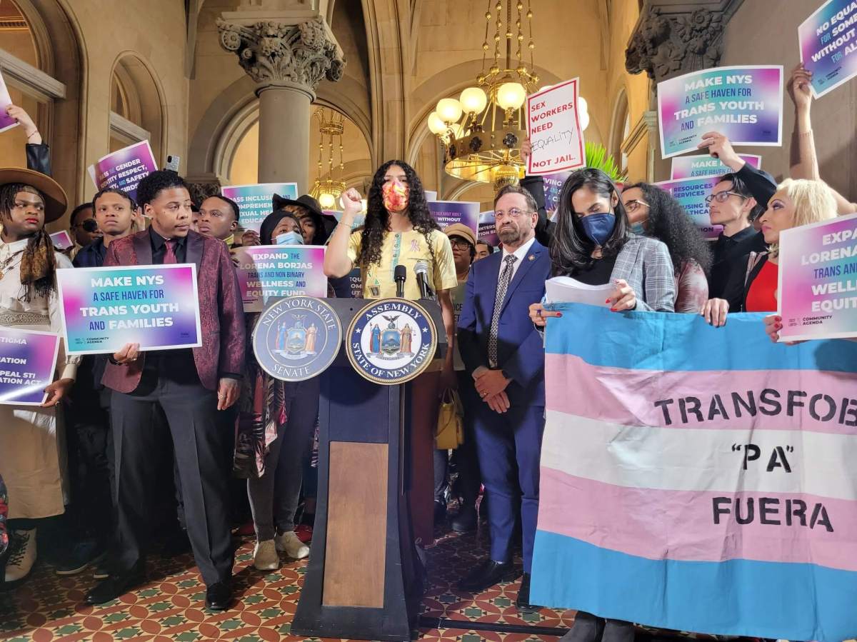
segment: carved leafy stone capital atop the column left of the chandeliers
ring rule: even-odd
[[[339,81],[345,58],[321,16],[302,21],[217,20],[220,45],[235,51],[238,63],[259,85],[294,87],[315,99],[323,78]]]

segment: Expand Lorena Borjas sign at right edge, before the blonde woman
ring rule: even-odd
[[[857,214],[780,232],[781,341],[857,337]]]

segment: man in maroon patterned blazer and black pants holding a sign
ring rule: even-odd
[[[146,231],[111,243],[105,267],[197,266],[202,345],[141,353],[125,345],[111,355],[104,384],[112,389],[116,446],[117,537],[111,577],[89,591],[89,604],[109,602],[142,581],[147,542],[148,489],[156,453],[170,440],[181,477],[188,534],[207,585],[206,607],[231,603],[232,548],[226,507],[231,429],[221,417],[238,398],[245,333],[241,295],[225,243],[190,231],[190,195],[173,171],[153,171],[137,187],[152,220]],[[153,425],[162,415],[164,427]]]

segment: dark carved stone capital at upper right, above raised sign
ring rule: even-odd
[[[741,0],[649,0],[625,51],[625,69],[661,82],[716,67],[722,34]]]

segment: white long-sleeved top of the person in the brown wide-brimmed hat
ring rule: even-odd
[[[0,326],[17,327],[22,330],[41,330],[63,336],[63,318],[59,309],[59,295],[50,297],[33,296],[25,301],[21,288],[21,256],[27,247],[28,239],[5,243],[0,238]],[[68,257],[54,252],[58,268],[74,269]],[[6,265],[6,261],[9,264]],[[60,341],[57,370],[60,379],[75,379],[81,357],[66,357],[65,342]]]

